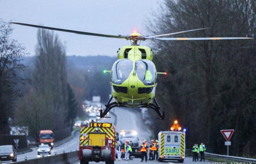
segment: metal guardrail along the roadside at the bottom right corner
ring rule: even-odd
[[[186,150],[186,153],[192,154],[192,151],[191,150]],[[235,161],[235,162],[246,162],[248,164],[251,164],[251,163],[252,164],[256,164],[256,159],[251,159],[251,158],[219,155],[219,154],[213,154],[213,153],[204,153],[204,156],[205,157],[210,157],[210,158],[217,158],[217,159],[224,159],[224,160],[229,160],[229,161]]]

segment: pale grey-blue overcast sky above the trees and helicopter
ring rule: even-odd
[[[6,22],[43,25],[109,35],[129,35],[137,30],[148,35],[146,24],[159,12],[164,0],[1,0],[0,18]],[[37,28],[12,25],[12,38],[34,55]],[[129,40],[55,31],[67,55],[116,56]],[[145,41],[141,45],[150,45]]]

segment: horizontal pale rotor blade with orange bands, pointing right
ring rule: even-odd
[[[229,40],[229,39],[253,39],[242,37],[223,37],[223,38],[148,38],[157,40]]]

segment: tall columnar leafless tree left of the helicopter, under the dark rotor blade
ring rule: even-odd
[[[32,85],[18,102],[20,125],[29,125],[31,134],[70,126],[65,48],[59,37],[39,29],[35,48]]]

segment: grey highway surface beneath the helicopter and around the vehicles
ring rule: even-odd
[[[116,108],[116,109],[112,109],[112,112],[114,114],[116,114],[117,116],[117,121],[116,121],[116,130],[117,132],[120,132],[120,130],[124,129],[124,130],[136,130],[139,134],[139,138],[140,141],[147,139],[148,141],[150,140],[150,136],[151,136],[151,132],[150,130],[144,126],[144,123],[142,121],[141,118],[141,113],[134,110],[134,109],[128,109],[128,108]],[[109,116],[111,118],[104,118],[101,119],[101,122],[115,122],[115,117],[113,116],[113,114],[109,114]],[[70,152],[70,151],[76,151],[79,149],[79,133],[75,133],[74,138],[72,138],[71,140],[69,140],[68,142],[58,146],[58,147],[54,147],[51,155],[54,155],[55,153],[60,154],[63,153],[63,151],[65,152]],[[34,159],[34,158],[41,158],[42,156],[38,156],[37,155],[37,149],[33,148],[32,152],[28,152],[28,153],[24,153],[21,155],[17,156],[17,161],[22,161],[25,159],[25,156],[27,156],[27,159]],[[3,162],[3,163],[9,163],[9,162]],[[78,161],[75,164],[79,164],[80,162]],[[133,159],[133,160],[129,160],[129,161],[115,161],[115,163],[117,164],[138,164],[141,163],[140,159]],[[148,164],[155,164],[158,163],[158,161],[147,161]],[[173,162],[166,162],[166,163],[177,163],[175,161]],[[185,158],[184,163],[186,164],[190,164],[190,163],[199,163],[199,164],[206,164],[206,162],[192,162],[192,159],[189,157]],[[95,163],[95,162],[90,162],[90,164],[105,164],[105,162],[99,162],[99,163]]]

